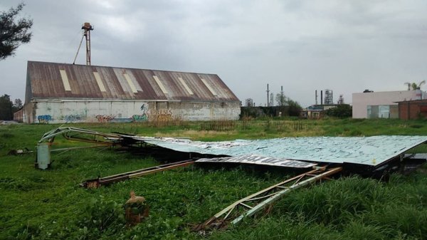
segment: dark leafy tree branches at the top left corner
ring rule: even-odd
[[[0,13],[0,60],[9,56],[14,56],[16,48],[21,43],[28,43],[31,40],[32,19],[18,19],[16,16],[25,4],[19,4],[16,8]]]

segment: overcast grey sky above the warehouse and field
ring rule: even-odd
[[[352,103],[364,89],[427,80],[426,0],[24,3],[31,43],[0,61],[0,95],[12,99],[25,98],[27,61],[73,63],[84,22],[95,28],[92,65],[216,73],[243,103],[265,105],[267,83],[307,107],[315,90]],[[0,11],[17,4],[2,0]]]

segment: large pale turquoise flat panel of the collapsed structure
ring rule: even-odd
[[[427,136],[285,137],[268,140],[200,142],[171,137],[132,137],[180,152],[238,157],[380,165],[427,141]]]

